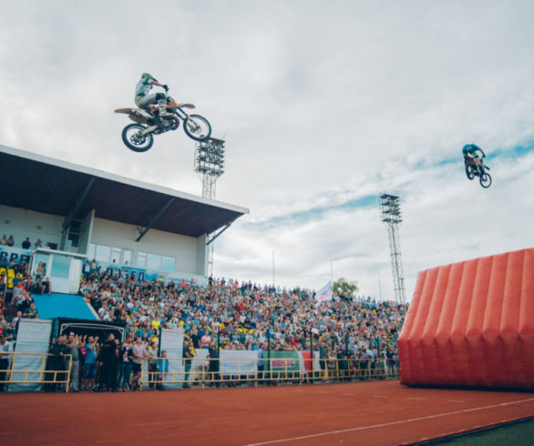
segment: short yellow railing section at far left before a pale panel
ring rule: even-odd
[[[68,391],[72,355],[49,353],[2,352],[0,354],[0,390],[12,384],[41,385]]]

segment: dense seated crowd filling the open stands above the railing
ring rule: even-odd
[[[128,335],[149,345],[159,329],[181,326],[195,349],[217,340],[231,350],[321,350],[354,359],[396,355],[396,339],[406,305],[371,298],[335,298],[316,305],[308,289],[210,279],[206,287],[194,282],[159,282],[127,274],[99,273],[90,262],[80,284],[98,316],[123,321]],[[116,270],[117,271],[117,270]]]

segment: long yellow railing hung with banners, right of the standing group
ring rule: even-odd
[[[167,365],[165,364],[165,361]],[[161,387],[204,388],[237,385],[305,384],[349,380],[398,379],[398,358],[355,359],[212,359],[159,358],[144,364],[140,389]]]

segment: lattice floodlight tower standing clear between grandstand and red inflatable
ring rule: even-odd
[[[387,225],[387,232],[389,234],[389,251],[391,252],[395,301],[406,303],[405,276],[398,237],[398,227],[402,223],[403,218],[401,216],[398,197],[387,194],[380,196],[380,218]]]

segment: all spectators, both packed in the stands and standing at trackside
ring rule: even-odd
[[[21,318],[36,318],[32,293],[50,293],[49,279],[31,278],[27,266],[15,265],[17,279],[11,305],[15,318],[0,317],[0,335],[14,341]],[[209,279],[202,287],[136,279],[87,261],[80,281],[84,296],[105,321],[124,322],[127,338],[78,336],[55,340],[56,355],[48,367],[64,370],[63,355],[73,358],[72,390],[131,390],[137,387],[140,363],[148,360],[152,378],[164,373],[165,353],[158,348],[159,329],[182,327],[185,334],[185,369],[196,349],[319,350],[322,370],[334,360],[384,360],[393,365],[396,339],[406,305],[369,297],[339,297],[317,305],[309,289],[281,289],[251,281]],[[137,346],[137,347],[136,347]],[[348,363],[348,362],[347,362]],[[50,376],[50,375],[49,375]],[[157,388],[155,383],[154,387]],[[48,390],[57,386],[49,385]]]

